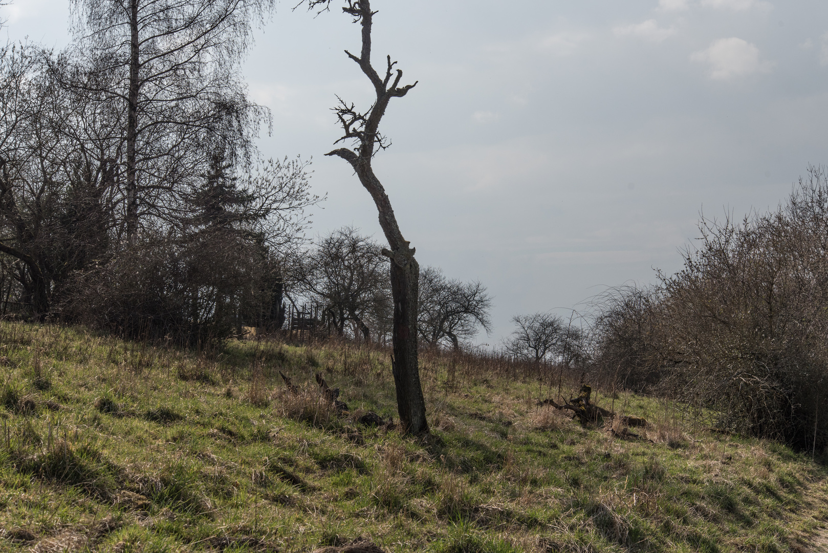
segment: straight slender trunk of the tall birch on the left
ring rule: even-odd
[[[129,26],[131,31],[129,49],[129,93],[127,117],[127,240],[135,245],[138,232],[138,186],[137,186],[137,130],[138,130],[138,0],[129,2]]]

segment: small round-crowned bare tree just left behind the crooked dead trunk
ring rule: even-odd
[[[302,291],[323,306],[337,334],[343,336],[346,323],[354,323],[370,340],[370,323],[391,303],[381,246],[345,226],[320,238],[299,267]]]

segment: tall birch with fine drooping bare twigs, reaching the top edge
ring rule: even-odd
[[[125,112],[125,221],[175,209],[174,192],[209,162],[204,146],[245,148],[262,112],[244,95],[238,62],[251,21],[273,0],[73,0],[79,94]],[[208,148],[209,149],[209,148]],[[200,155],[201,154],[201,155]]]

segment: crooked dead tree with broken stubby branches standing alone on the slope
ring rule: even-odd
[[[327,9],[330,0],[308,0],[310,8]],[[354,148],[338,148],[325,155],[339,156],[354,168],[359,182],[371,194],[379,212],[379,225],[383,229],[390,249],[383,249],[383,255],[391,260],[391,291],[394,302],[392,327],[392,371],[397,388],[397,410],[400,422],[406,432],[424,434],[428,432],[426,402],[422,396],[420,370],[417,365],[417,292],[420,266],[414,259],[415,249],[402,237],[397,217],[385,188],[373,172],[371,160],[378,150],[388,148],[388,140],[379,133],[379,122],[383,119],[388,102],[401,98],[415,85],[400,85],[402,70],[395,69],[396,61],[387,58],[385,74],[380,76],[371,65],[371,26],[376,12],[371,11],[369,0],[346,0],[342,11],[354,17],[362,27],[362,51],[355,56],[345,51],[348,57],[359,65],[371,81],[377,98],[368,111],[360,112],[354,104],[339,99],[334,109],[344,131],[336,143],[354,142]]]

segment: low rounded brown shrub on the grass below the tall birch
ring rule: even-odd
[[[262,313],[274,311],[271,303],[281,305],[277,269],[260,245],[240,234],[151,236],[142,246],[76,274],[66,287],[63,317],[127,337],[198,346],[238,332],[239,313],[246,324],[269,324]]]

